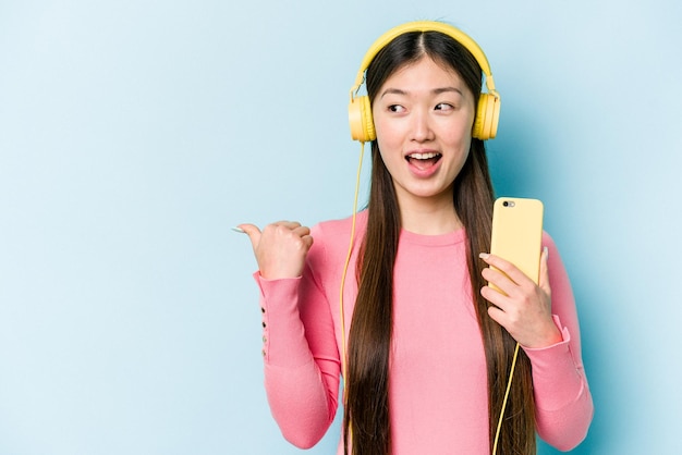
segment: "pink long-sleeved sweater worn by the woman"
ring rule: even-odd
[[[358,213],[360,234],[344,290],[346,340],[366,221],[366,212]],[[303,276],[265,280],[255,274],[268,401],[282,434],[299,447],[310,447],[324,436],[339,405],[339,290],[350,225],[345,219],[313,228],[315,242]],[[567,451],[585,438],[593,402],[571,285],[547,234],[543,243],[549,248],[552,313],[563,341],[524,351],[533,364],[538,434]],[[486,366],[464,231],[437,236],[403,231],[394,274],[389,388],[393,453],[488,454]]]

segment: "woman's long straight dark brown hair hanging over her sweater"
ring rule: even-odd
[[[397,70],[428,57],[453,69],[478,102],[482,71],[466,48],[438,32],[411,32],[398,36],[367,67],[366,85],[373,100]],[[349,336],[346,401],[343,419],[345,453],[391,453],[389,357],[392,336],[393,266],[401,221],[393,182],[372,143],[372,184],[368,221],[357,263],[358,293]],[[454,181],[453,206],[467,237],[467,267],[472,296],[485,348],[488,379],[490,450],[497,430],[515,341],[492,321],[490,305],[479,293],[485,265],[478,254],[490,249],[494,189],[483,140],[473,138],[468,158]],[[531,362],[520,352],[514,382],[498,441],[498,453],[529,455],[535,447],[535,402]],[[351,436],[352,435],[352,436]],[[350,438],[349,438],[350,436]]]

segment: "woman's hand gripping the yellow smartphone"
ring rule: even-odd
[[[551,316],[547,256],[545,249],[540,256],[539,284],[535,284],[511,262],[494,255],[480,255],[491,266],[483,270],[483,278],[502,291],[490,285],[480,290],[480,295],[492,304],[488,315],[523,347],[547,347],[562,340]]]

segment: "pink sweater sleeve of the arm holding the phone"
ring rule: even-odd
[[[533,367],[537,431],[552,446],[569,451],[586,436],[594,405],[583,368],[577,311],[568,273],[553,241],[549,250],[549,284],[555,323],[562,341],[545,348],[524,348]]]

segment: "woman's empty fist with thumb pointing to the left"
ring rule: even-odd
[[[254,248],[260,276],[267,280],[297,278],[303,273],[305,257],[313,245],[307,226],[295,221],[280,221],[263,229],[240,224]]]

